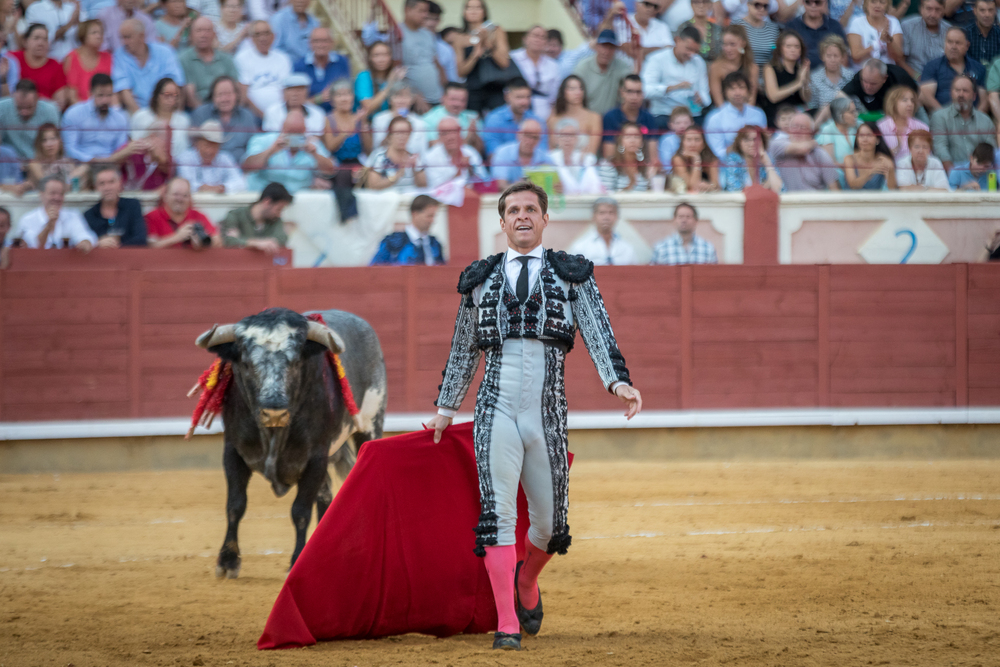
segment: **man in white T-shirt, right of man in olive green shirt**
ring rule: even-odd
[[[243,99],[258,118],[269,107],[282,101],[282,82],[292,73],[292,61],[282,51],[272,48],[274,32],[266,21],[250,26],[253,46],[240,49],[233,62],[240,73]]]

